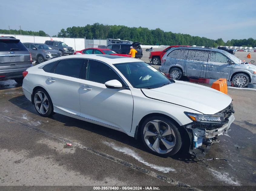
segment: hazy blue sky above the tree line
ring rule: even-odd
[[[102,23],[161,28],[211,39],[256,39],[256,1],[12,0],[1,2],[0,29],[43,30]]]

